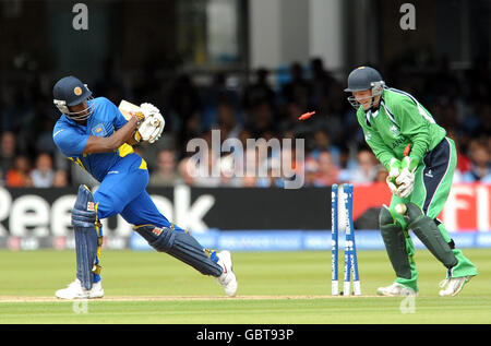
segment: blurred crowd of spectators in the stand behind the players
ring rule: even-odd
[[[378,67],[375,67],[378,68]],[[412,94],[447,130],[458,150],[455,182],[491,183],[491,71],[488,59],[476,60],[468,70],[452,71],[445,61],[434,69],[399,71],[380,69],[386,84]],[[169,187],[187,183],[195,187],[282,187],[290,179],[284,169],[304,171],[304,186],[327,187],[335,182],[371,183],[385,181],[386,169],[367,147],[355,110],[346,100],[346,81],[327,71],[323,61],[312,59],[307,65],[292,62],[284,70],[254,71],[250,84],[241,86],[225,73],[215,73],[213,83],[197,85],[192,75],[182,73],[128,86],[108,65],[106,75],[88,82],[95,97],[105,96],[116,105],[121,99],[156,105],[166,119],[163,138],[154,145],[137,145],[147,162],[149,186]],[[79,75],[84,80],[83,75]],[[51,81],[52,84],[56,81]],[[48,83],[49,84],[49,83]],[[51,85],[52,85],[51,84]],[[0,184],[4,187],[67,187],[97,182],[71,164],[52,142],[52,127],[59,117],[52,105],[51,85],[40,75],[25,84],[0,84]],[[307,121],[298,117],[315,115]],[[204,163],[218,176],[196,176],[187,151],[192,139],[203,139],[212,146],[212,131],[219,130],[221,143],[236,139],[246,148],[243,162],[224,152],[209,155]],[[248,150],[248,139],[304,140],[304,155],[296,147],[282,145],[266,156]],[[253,162],[266,176],[230,175],[235,165]],[[288,160],[283,160],[288,157]],[[219,159],[218,159],[219,158]],[[203,164],[203,163],[202,163]],[[285,168],[285,167],[284,167]],[[92,180],[91,180],[92,179]]]

